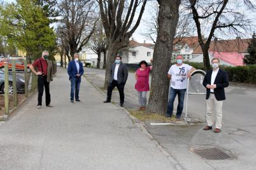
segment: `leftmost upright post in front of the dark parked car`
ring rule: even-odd
[[[8,60],[4,62],[4,108],[6,115],[9,114],[9,68],[8,68]]]

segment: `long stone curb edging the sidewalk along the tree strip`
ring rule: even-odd
[[[86,80],[87,78],[85,76],[83,76]],[[91,81],[87,80],[88,82],[90,82],[90,84],[92,84],[92,86],[94,86],[94,88],[96,88],[103,96],[106,96],[104,94],[104,92],[99,89],[96,85],[94,85]],[[148,138],[150,138],[151,141],[153,141],[153,143],[155,143],[155,146],[157,148],[159,148],[160,152],[162,152],[162,154],[166,155],[167,159],[173,164],[174,168],[176,170],[182,170],[183,168],[180,166],[180,164],[178,164],[178,162],[168,153],[166,152],[166,150],[164,150],[164,148],[162,147],[162,145],[160,145],[159,142],[157,142],[155,140],[155,138],[153,138],[152,134],[150,134],[146,128],[145,128],[145,123],[139,121],[139,119],[137,119],[136,117],[134,117],[133,115],[131,115],[128,110],[126,110],[124,107],[120,107],[118,104],[116,104],[117,107],[121,108],[132,120],[133,124],[135,124],[139,129],[141,129],[141,131],[148,136]]]

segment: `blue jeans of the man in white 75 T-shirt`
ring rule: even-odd
[[[180,118],[183,110],[183,101],[185,92],[187,89],[173,89],[171,88],[169,91],[169,101],[168,101],[168,107],[167,107],[167,116],[173,115],[173,102],[175,100],[176,95],[178,94],[178,107],[177,107],[177,113],[176,117]]]

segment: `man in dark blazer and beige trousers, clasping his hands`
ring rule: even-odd
[[[212,129],[214,121],[215,133],[219,133],[222,128],[222,105],[225,100],[224,88],[229,86],[227,79],[227,73],[224,70],[220,70],[220,60],[213,58],[211,60],[213,70],[206,73],[203,81],[203,86],[206,88],[206,120],[207,126],[204,127],[205,131]],[[215,108],[215,109],[214,109]],[[216,111],[216,119],[213,111]]]

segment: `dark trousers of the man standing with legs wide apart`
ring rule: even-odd
[[[120,96],[120,104],[124,104],[124,85],[125,84],[118,84],[117,81],[113,80],[108,84],[108,96],[107,100],[111,101],[111,96],[112,96],[112,91],[115,87],[117,87],[119,91],[119,96]]]

